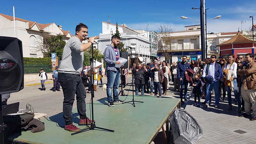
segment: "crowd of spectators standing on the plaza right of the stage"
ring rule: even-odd
[[[166,61],[157,60],[153,64],[134,63],[131,70],[135,94],[141,92],[142,96],[150,93],[162,97],[167,94],[172,81],[174,91],[180,92],[182,104],[188,102],[188,88],[192,88],[194,106],[209,108],[214,95],[215,108],[220,108],[220,100],[227,100],[228,110],[232,110],[233,103],[238,106],[241,116],[256,120],[256,55],[248,53],[245,57],[235,58],[234,54],[229,54],[226,59],[212,55],[204,61],[201,58],[187,61],[188,57],[183,56],[180,62],[173,62],[171,66]],[[235,96],[233,101],[231,92]]]

